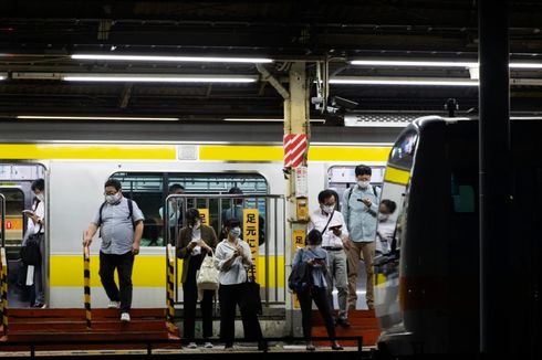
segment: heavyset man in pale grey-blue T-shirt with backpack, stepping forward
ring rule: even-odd
[[[100,230],[100,278],[110,298],[108,308],[121,309],[121,321],[129,321],[132,307],[132,268],[134,256],[139,253],[143,234],[143,212],[133,200],[123,197],[121,182],[105,182],[105,202],[85,231],[83,245],[90,246]],[[119,286],[115,284],[115,269]]]

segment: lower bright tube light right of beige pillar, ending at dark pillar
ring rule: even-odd
[[[347,77],[336,76],[330,84],[341,85],[411,85],[411,86],[478,86],[478,81],[428,77]]]

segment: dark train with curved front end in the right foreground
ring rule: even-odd
[[[504,352],[538,347],[541,330],[542,159],[529,140],[541,130],[540,121],[512,121],[512,161],[502,169],[513,199],[503,234],[511,246],[501,250]],[[382,358],[480,351],[478,173],[476,119],[420,118],[393,146],[382,199],[397,204],[395,229],[375,258]]]

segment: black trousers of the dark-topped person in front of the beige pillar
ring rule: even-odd
[[[301,305],[301,322],[303,326],[303,336],[309,340],[312,333],[312,300],[316,304],[320,315],[324,319],[327,336],[331,340],[335,340],[335,325],[333,315],[327,299],[327,290],[325,287],[313,287],[309,292],[298,294]]]

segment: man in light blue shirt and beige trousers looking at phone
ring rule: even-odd
[[[357,303],[357,267],[359,253],[363,254],[367,275],[365,300],[374,308],[373,258],[375,256],[376,215],[378,213],[379,189],[371,184],[373,171],[359,165],[355,169],[356,184],[343,193],[342,213],[348,227],[351,244],[348,256],[348,308],[355,309]]]

